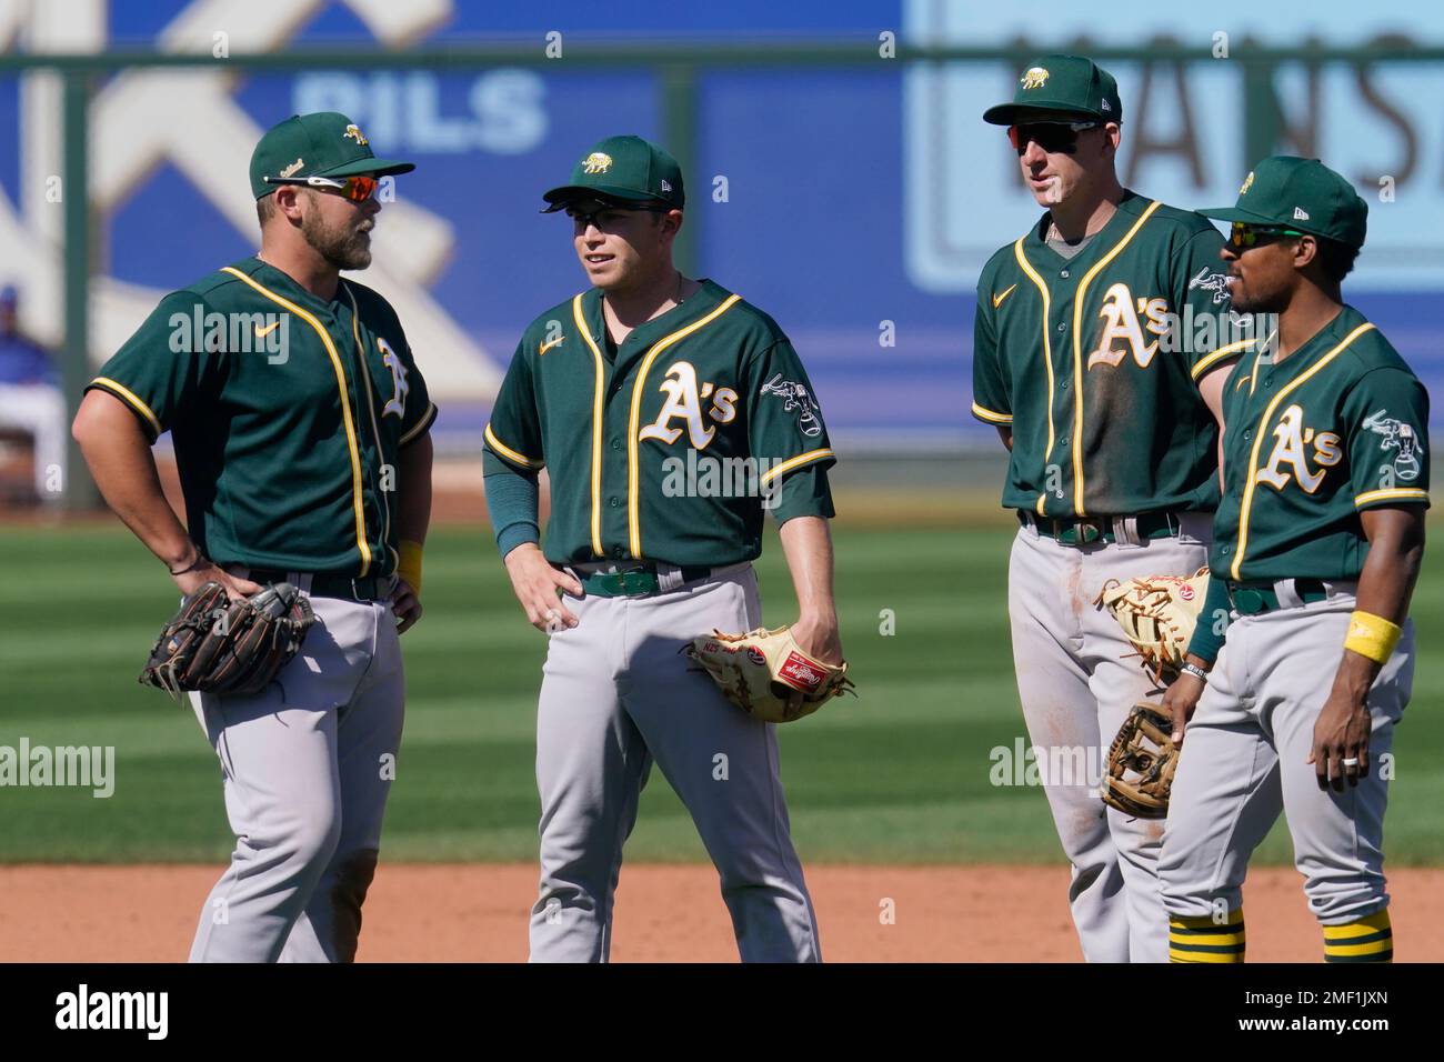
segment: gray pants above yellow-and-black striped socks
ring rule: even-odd
[[[1369,773],[1318,789],[1314,724],[1343,657],[1353,584],[1323,601],[1235,616],[1184,735],[1168,803],[1160,876],[1174,918],[1242,903],[1249,857],[1282,811],[1308,907],[1341,925],[1388,906],[1383,812],[1393,727],[1414,685],[1414,624],[1369,691]]]

